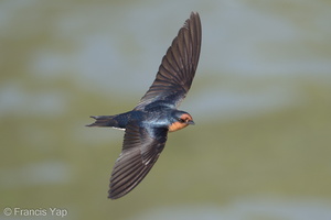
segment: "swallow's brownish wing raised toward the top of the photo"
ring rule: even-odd
[[[163,56],[153,84],[135,109],[143,109],[154,101],[162,101],[177,108],[191,87],[200,48],[200,16],[196,12],[192,12]]]

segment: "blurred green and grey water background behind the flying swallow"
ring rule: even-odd
[[[191,11],[200,65],[147,178],[108,200],[122,131]],[[331,219],[331,2],[0,2],[1,219]]]

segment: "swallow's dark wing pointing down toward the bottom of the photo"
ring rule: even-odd
[[[143,179],[162,152],[167,134],[166,129],[147,130],[137,121],[128,123],[122,152],[113,169],[109,198],[122,197]]]

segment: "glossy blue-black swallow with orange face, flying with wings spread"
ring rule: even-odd
[[[191,12],[138,105],[125,113],[90,117],[95,122],[87,127],[125,130],[122,150],[110,177],[108,198],[118,199],[127,195],[146,177],[163,151],[169,132],[194,124],[192,116],[178,107],[191,88],[201,38],[200,15]]]

